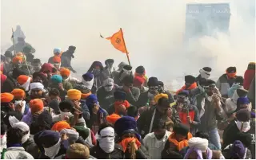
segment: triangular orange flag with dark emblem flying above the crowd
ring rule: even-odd
[[[106,39],[111,41],[111,44],[115,49],[118,49],[122,53],[128,53],[126,50],[126,43],[122,35],[122,29],[120,29],[117,33],[114,33],[112,37],[106,37]]]

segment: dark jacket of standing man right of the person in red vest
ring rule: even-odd
[[[202,100],[205,97],[205,94],[202,93],[196,96],[196,103],[198,107],[198,111],[202,110]],[[205,112],[200,118],[201,123],[198,126],[198,131],[212,131],[214,128],[217,128],[217,120],[222,119],[222,113],[218,113],[218,111],[214,107],[214,103],[205,99]]]

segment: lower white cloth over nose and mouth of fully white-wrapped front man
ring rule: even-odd
[[[99,146],[106,153],[111,153],[114,150],[114,136],[98,139]]]

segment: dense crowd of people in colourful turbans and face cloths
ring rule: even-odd
[[[42,63],[17,40],[1,55],[2,159],[255,158],[254,62],[217,82],[204,67],[170,92],[143,66],[113,59],[78,80],[75,46]]]

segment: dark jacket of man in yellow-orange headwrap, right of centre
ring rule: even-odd
[[[149,133],[150,131],[150,123],[154,115],[154,111],[156,111],[154,120],[161,119],[162,115],[159,115],[158,110],[156,107],[153,107],[152,109],[146,110],[142,113],[142,115],[137,120],[137,126],[138,126],[138,133],[142,136],[142,139]],[[181,120],[179,119],[177,111],[172,108],[172,117],[170,118],[174,124],[181,123]],[[153,122],[154,124],[154,122]],[[152,125],[153,125],[152,124]]]

